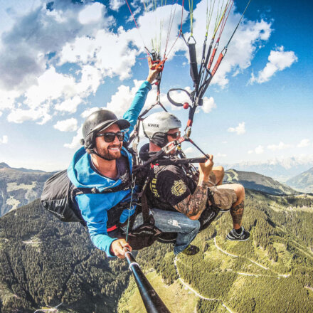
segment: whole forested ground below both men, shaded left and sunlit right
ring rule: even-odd
[[[243,225],[250,240],[229,242],[230,214],[220,214],[194,240],[200,252],[176,267],[171,245],[134,255],[171,312],[313,312],[313,198],[246,190]],[[0,312],[61,302],[59,312],[145,312],[127,262],[39,201],[0,218],[0,262]]]

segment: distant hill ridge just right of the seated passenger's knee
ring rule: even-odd
[[[235,183],[242,184],[245,188],[263,191],[274,195],[298,194],[297,191],[275,181],[271,177],[267,177],[253,171],[237,171],[228,169],[224,176],[223,184]]]

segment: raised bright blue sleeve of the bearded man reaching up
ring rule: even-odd
[[[123,115],[123,119],[127,120],[130,123],[129,129],[125,133],[125,142],[128,141],[129,134],[133,131],[137,123],[139,114],[144,107],[144,102],[146,102],[148,92],[151,89],[152,85],[147,82],[147,80],[142,83],[142,85],[139,87],[139,90],[136,92],[136,95],[134,96],[134,100],[132,100],[132,105],[130,105],[129,109]]]

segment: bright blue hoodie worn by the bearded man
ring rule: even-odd
[[[149,82],[145,81],[142,83],[134,97],[134,100],[132,101],[132,105],[129,107],[127,112],[125,112],[123,118],[130,123],[130,127],[127,129],[124,137],[125,141],[129,139],[129,134],[134,129],[142,107],[144,107],[147,94],[151,89],[152,86]],[[132,155],[129,154],[124,147],[122,148],[122,154],[128,158],[129,169],[130,172],[132,172]],[[98,174],[97,171],[92,169],[90,164],[90,154],[87,154],[84,147],[81,147],[74,154],[73,160],[68,167],[68,177],[74,186],[78,188],[95,187],[99,191],[103,191],[107,188],[112,188],[122,184],[120,179],[115,181]],[[131,190],[129,189],[112,193],[81,194],[75,197],[82,216],[87,223],[92,243],[100,250],[105,251],[105,253],[110,257],[113,256],[110,254],[110,245],[112,241],[117,240],[117,238],[110,238],[107,235],[107,211],[121,201],[129,201],[130,193]],[[134,208],[130,211],[131,215],[133,213]],[[124,223],[127,221],[128,216],[129,211],[124,210],[120,216],[120,222]]]

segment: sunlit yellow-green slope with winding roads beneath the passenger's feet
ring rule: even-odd
[[[313,198],[246,193],[243,224],[250,240],[227,241],[232,223],[223,213],[193,241],[200,253],[178,256],[181,280],[169,246],[138,253],[171,312],[313,312]],[[119,312],[144,312],[132,280]]]

